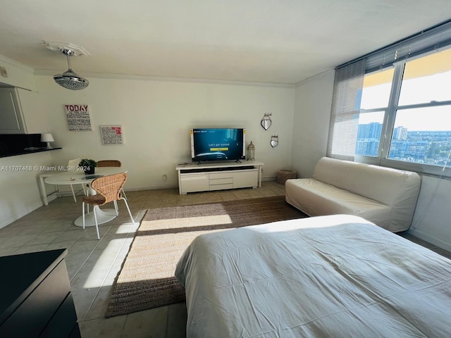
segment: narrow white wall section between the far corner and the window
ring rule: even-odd
[[[316,162],[326,156],[334,77],[329,70],[296,87],[291,166],[297,177],[311,177]]]

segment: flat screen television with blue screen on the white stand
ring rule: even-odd
[[[191,158],[202,161],[240,161],[246,158],[244,128],[193,128]]]

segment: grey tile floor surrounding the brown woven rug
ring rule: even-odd
[[[94,227],[83,230],[73,225],[75,218],[81,215],[80,198],[78,203],[74,203],[71,196],[61,197],[0,229],[0,256],[67,248],[66,265],[82,338],[185,337],[185,303],[104,318],[113,280],[128,253],[144,211],[166,206],[276,196],[285,194],[284,188],[284,185],[271,181],[263,182],[261,189],[183,196],[178,194],[178,189],[127,192],[135,224],[131,223],[120,201],[119,217],[99,227],[100,241]],[[401,235],[451,258],[447,251],[408,232]]]

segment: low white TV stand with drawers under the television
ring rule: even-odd
[[[259,161],[226,163],[184,163],[175,166],[178,171],[178,192],[209,192],[213,190],[261,187]]]

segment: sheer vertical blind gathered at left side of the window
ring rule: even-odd
[[[365,59],[335,71],[326,152],[328,157],[354,161],[364,75]]]

